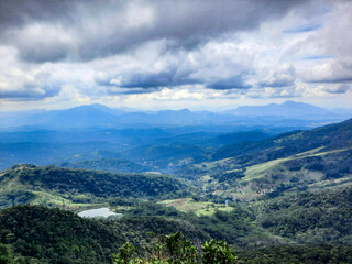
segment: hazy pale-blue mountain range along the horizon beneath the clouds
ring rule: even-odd
[[[340,113],[341,112],[341,113]],[[0,114],[2,130],[29,129],[79,129],[79,128],[156,128],[188,125],[232,127],[292,127],[312,128],[350,118],[346,110],[329,112],[308,103],[287,101],[263,107],[239,107],[233,111],[215,113],[209,111],[162,110],[128,111],[103,105],[80,106],[54,111],[29,111]],[[252,128],[253,129],[253,128]]]

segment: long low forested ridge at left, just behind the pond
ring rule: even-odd
[[[187,195],[189,190],[182,180],[167,175],[113,174],[29,164],[2,170],[0,187],[2,208],[33,199],[53,202],[54,196],[91,202],[91,199],[111,197],[168,198]]]

